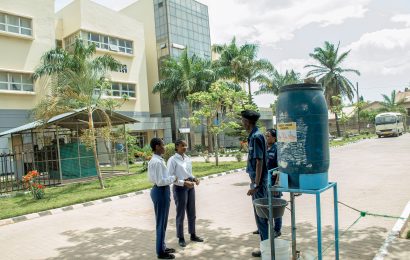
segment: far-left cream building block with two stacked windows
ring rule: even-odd
[[[0,2],[0,132],[31,121],[30,112],[46,93],[31,75],[44,52],[55,46],[54,0]],[[0,153],[8,150],[0,138]]]

